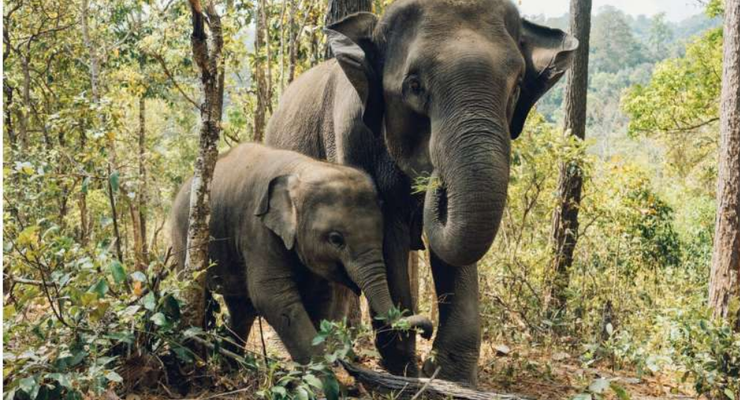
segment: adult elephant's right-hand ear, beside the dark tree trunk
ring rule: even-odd
[[[509,131],[516,139],[534,103],[565,74],[573,63],[578,40],[561,31],[522,19],[521,48],[527,70],[521,84]]]

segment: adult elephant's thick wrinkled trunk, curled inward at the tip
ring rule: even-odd
[[[477,262],[491,247],[509,183],[505,119],[491,101],[463,106],[445,113],[457,118],[432,118],[432,178],[437,184],[427,190],[424,203],[429,245],[453,266]]]

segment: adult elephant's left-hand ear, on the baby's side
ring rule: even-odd
[[[367,106],[371,85],[376,81],[372,36],[377,23],[374,14],[359,12],[324,29],[337,63],[360,96],[363,107]]]

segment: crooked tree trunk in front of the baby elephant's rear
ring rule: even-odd
[[[190,214],[188,218],[187,254],[183,276],[188,284],[183,296],[186,306],[183,323],[186,326],[205,328],[206,309],[206,268],[208,268],[209,223],[211,218],[210,192],[213,169],[218,156],[218,139],[221,133],[221,114],[224,93],[223,32],[221,17],[216,12],[213,0],[209,0],[205,10],[199,0],[190,0],[193,13],[193,34],[191,43],[193,58],[201,75],[204,102],[200,106],[200,143],[195,160],[195,172],[190,189]],[[205,32],[205,16],[211,40]]]

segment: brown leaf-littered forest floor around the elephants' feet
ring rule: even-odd
[[[275,332],[263,324],[263,336],[267,353],[270,357],[288,360]],[[423,356],[431,351],[432,342],[419,339],[418,354]],[[262,353],[262,338],[255,323],[247,343],[247,349]],[[379,359],[370,340],[355,344],[359,361],[368,368],[380,370]],[[596,379],[604,378],[624,388],[631,400],[652,399],[693,399],[692,390],[686,383],[681,383],[678,376],[652,375],[638,378],[634,371],[612,371],[597,366],[583,367],[578,356],[563,351],[547,348],[507,346],[504,343],[484,342],[478,374],[478,389],[499,394],[518,394],[532,399],[571,399],[580,393],[587,393],[587,388]],[[353,379],[341,367],[335,369],[339,380],[348,387],[356,387]],[[186,398],[189,400],[233,399],[251,400],[259,398],[256,394],[260,382],[255,378],[245,378],[241,374],[219,376],[213,386],[207,389],[194,389],[188,396],[179,397],[163,385],[156,392],[132,391],[121,397],[123,400],[163,400]],[[367,393],[359,388],[360,393]],[[383,398],[362,395],[365,398]],[[390,398],[390,397],[389,397]],[[587,397],[591,398],[591,397]],[[594,397],[596,398],[596,397]],[[613,391],[608,391],[604,399],[617,399]],[[112,398],[110,400],[113,400]],[[109,400],[109,399],[107,399]]]

